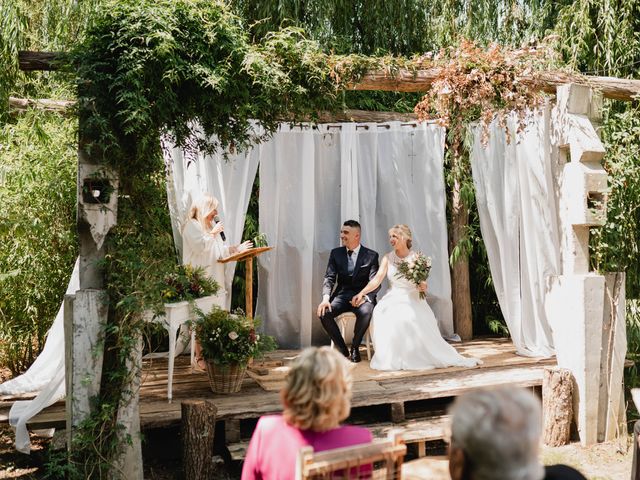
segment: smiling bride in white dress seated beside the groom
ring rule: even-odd
[[[451,366],[473,367],[482,363],[460,355],[440,334],[436,317],[429,304],[420,299],[427,283],[419,286],[396,276],[397,265],[416,255],[411,250],[411,230],[395,225],[389,230],[393,251],[380,262],[376,276],[356,295],[358,304],[364,296],[378,288],[386,275],[390,288],[373,310],[372,338],[375,354],[371,368],[375,370],[427,370]]]

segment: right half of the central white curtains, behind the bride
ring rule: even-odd
[[[443,336],[453,334],[444,185],[445,131],[432,123],[367,124],[358,130],[360,223],[364,243],[382,256],[389,227],[404,223],[413,249],[429,255],[428,302]],[[386,282],[381,294],[386,291]]]

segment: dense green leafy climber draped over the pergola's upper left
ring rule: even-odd
[[[255,140],[251,119],[273,131],[287,115],[337,104],[315,42],[287,29],[253,46],[220,1],[110,2],[71,58],[80,112],[91,112],[82,135],[118,168],[143,168],[160,134],[204,152],[243,149]],[[206,135],[194,145],[196,129]]]

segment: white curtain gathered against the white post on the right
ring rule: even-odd
[[[560,237],[551,175],[549,111],[535,114],[510,143],[496,122],[486,147],[474,130],[471,153],[480,230],[509,333],[521,355],[554,354],[544,311],[547,278],[559,273]]]

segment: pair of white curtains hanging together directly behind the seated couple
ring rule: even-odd
[[[430,303],[453,332],[443,178],[444,130],[431,124],[282,125],[261,146],[260,230],[276,248],[259,257],[258,314],[283,348],[324,343],[315,316],[329,252],[343,221],[381,255],[407,223],[433,259]]]

